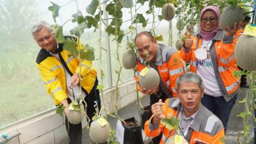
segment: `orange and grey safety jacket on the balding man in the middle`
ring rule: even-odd
[[[137,58],[138,67],[136,68],[139,75],[141,70],[146,67],[144,62],[145,61],[140,56]],[[173,97],[177,97],[177,92],[175,90],[176,80],[185,72],[179,52],[172,47],[159,44],[157,47],[155,65],[157,65],[159,76],[164,84],[166,84],[168,90],[172,92]],[[138,76],[135,77],[135,80],[138,81]],[[140,90],[140,85],[137,86],[137,89]]]

